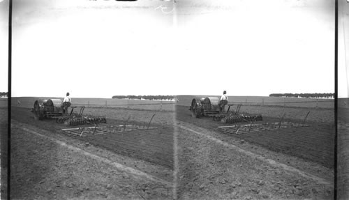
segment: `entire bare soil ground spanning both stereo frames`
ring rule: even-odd
[[[334,125],[325,118],[308,118],[307,128],[223,134],[217,127],[226,124],[176,109],[85,109],[107,116],[108,125],[128,118],[147,125],[155,114],[157,129],[68,137],[65,125],[35,121],[29,108],[13,107],[11,197],[332,199]],[[279,121],[276,112],[263,116],[263,123]]]

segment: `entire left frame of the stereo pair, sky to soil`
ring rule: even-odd
[[[11,199],[175,198],[173,3],[13,1]]]

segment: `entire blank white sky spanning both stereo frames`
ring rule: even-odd
[[[13,96],[334,92],[334,0],[177,0],[171,11],[15,1]]]

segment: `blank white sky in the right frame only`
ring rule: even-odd
[[[204,2],[210,2],[211,10],[217,7],[216,1]],[[196,75],[191,92],[334,92],[334,1],[229,2],[226,11],[197,9],[201,15],[182,17],[179,38],[186,39],[181,47],[188,48],[183,61],[197,66],[184,79],[205,66],[202,81],[212,85],[195,91]]]

